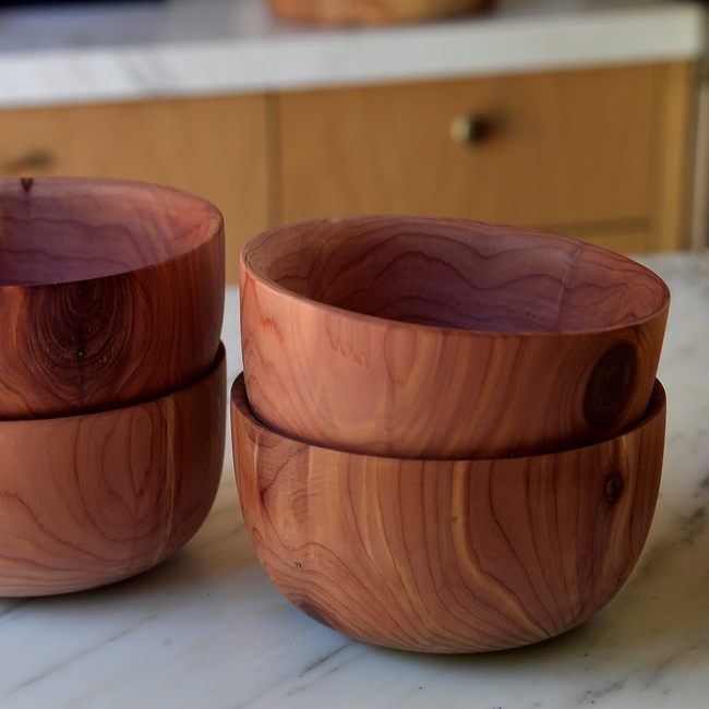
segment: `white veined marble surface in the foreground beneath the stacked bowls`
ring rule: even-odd
[[[563,637],[484,656],[370,647],[293,609],[255,561],[227,458],[214,508],[171,560],[108,588],[0,599],[0,707],[696,709],[709,701],[709,255],[642,261],[672,308],[665,465],[646,550]],[[229,374],[239,371],[228,292]]]

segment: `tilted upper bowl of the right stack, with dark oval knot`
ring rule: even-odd
[[[638,263],[528,229],[287,225],[241,254],[249,401],[281,433],[374,455],[585,445],[642,418],[669,305]]]

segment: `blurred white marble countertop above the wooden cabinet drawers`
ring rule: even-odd
[[[317,31],[264,0],[61,4],[0,12],[0,106],[263,92],[696,58],[687,0],[498,0],[489,14]]]

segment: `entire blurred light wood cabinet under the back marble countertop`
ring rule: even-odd
[[[674,62],[5,110],[0,176],[120,177],[200,194],[225,216],[228,283],[256,233],[338,214],[457,216],[625,252],[680,249],[693,96],[693,65]]]

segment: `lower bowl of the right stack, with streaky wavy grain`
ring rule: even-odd
[[[350,637],[423,652],[537,642],[603,608],[645,543],[665,396],[592,446],[495,460],[362,456],[264,426],[231,390],[241,509],[297,608]]]

